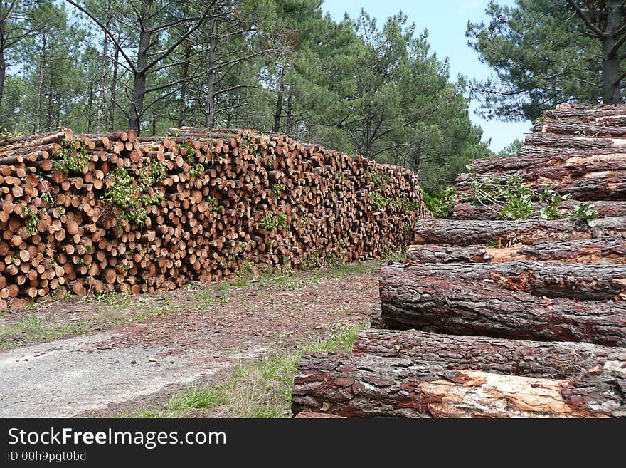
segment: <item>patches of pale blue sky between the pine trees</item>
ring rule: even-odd
[[[468,20],[487,19],[484,10],[488,3],[489,0],[324,0],[322,9],[339,21],[344,12],[356,17],[362,7],[379,23],[402,10],[419,31],[428,28],[431,50],[440,59],[450,58],[450,78],[456,80],[459,73],[469,78],[484,78],[492,73],[480,63],[478,54],[467,46],[465,38]],[[514,3],[514,0],[499,0],[499,4]],[[492,139],[494,151],[501,150],[515,138],[521,139],[530,130],[530,122],[484,120],[473,113],[474,108],[476,105],[472,103],[472,120],[482,127],[484,140]]]

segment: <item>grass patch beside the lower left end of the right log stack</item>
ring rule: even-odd
[[[292,353],[240,362],[233,378],[223,385],[194,386],[177,393],[161,407],[118,413],[115,417],[291,417],[293,379],[302,355],[322,351],[351,353],[354,338],[364,326],[343,328],[327,340],[304,344]]]

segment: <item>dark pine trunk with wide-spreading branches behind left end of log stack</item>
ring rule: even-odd
[[[141,119],[144,115],[144,98],[146,95],[146,66],[148,65],[148,52],[150,48],[150,11],[152,0],[142,0],[141,21],[139,31],[139,45],[137,46],[137,71],[133,73],[132,99],[129,111],[128,126],[141,132]]]

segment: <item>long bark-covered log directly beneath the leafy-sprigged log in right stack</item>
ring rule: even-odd
[[[422,219],[415,226],[415,243],[467,246],[499,242],[507,246],[542,241],[597,239],[624,234],[626,217],[596,219],[595,227],[566,219],[551,221]]]

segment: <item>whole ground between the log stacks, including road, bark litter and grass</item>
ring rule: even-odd
[[[0,313],[0,417],[290,417],[299,356],[349,352],[381,263]]]

